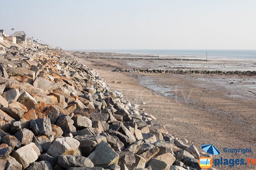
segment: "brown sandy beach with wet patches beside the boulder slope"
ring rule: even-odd
[[[76,58],[96,69],[132,103],[156,116],[173,136],[188,139],[199,151],[201,144],[214,144],[224,158],[256,158],[256,76],[111,72],[133,67],[121,59]],[[135,62],[145,65],[143,60]],[[223,153],[224,147],[249,147],[252,153]]]

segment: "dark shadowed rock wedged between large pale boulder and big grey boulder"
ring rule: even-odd
[[[82,155],[87,157],[92,153],[92,151],[95,149],[97,146],[97,142],[90,140],[90,139],[81,139],[79,140],[80,146],[79,148],[81,149]]]

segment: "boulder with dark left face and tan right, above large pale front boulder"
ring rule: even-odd
[[[76,127],[73,126],[73,124],[74,121],[68,115],[61,115],[56,121],[56,125],[63,130],[63,136],[66,136],[68,133],[76,132]]]

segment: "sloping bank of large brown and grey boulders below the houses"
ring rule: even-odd
[[[199,170],[201,153],[64,51],[0,55],[0,170]]]

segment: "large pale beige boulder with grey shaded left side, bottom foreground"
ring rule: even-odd
[[[47,154],[52,157],[74,155],[79,148],[79,144],[79,141],[70,137],[57,138],[47,150]]]

